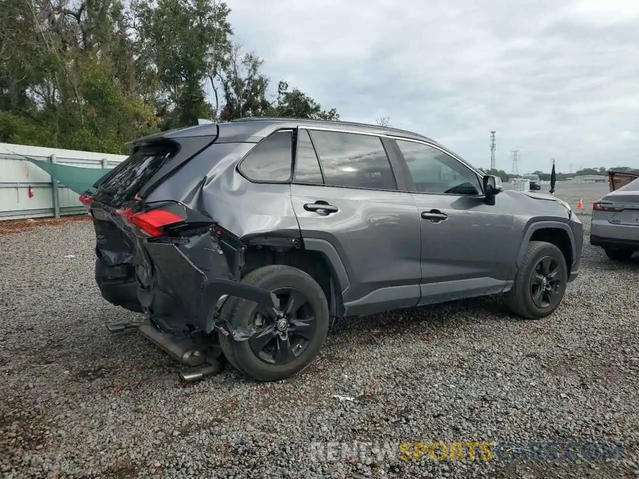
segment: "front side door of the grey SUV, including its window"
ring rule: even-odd
[[[502,291],[520,245],[507,198],[486,204],[479,174],[435,145],[396,144],[419,211],[420,304]]]

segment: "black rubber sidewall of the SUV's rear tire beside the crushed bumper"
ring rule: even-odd
[[[317,356],[328,333],[328,301],[326,300],[324,292],[311,276],[307,275],[304,271],[294,268],[266,275],[252,285],[268,291],[274,291],[283,287],[295,288],[302,291],[314,310],[316,330],[312,341],[304,352],[286,365],[266,363],[252,351],[248,340],[236,341],[231,339],[233,355],[240,367],[239,369],[249,373],[258,372],[259,376],[264,377],[266,380],[277,380],[281,379],[281,377],[293,376],[301,372],[308,367]],[[249,322],[252,321],[256,307],[256,303],[252,301],[237,298],[233,312],[231,312],[231,317],[235,317],[238,324],[247,327],[249,326]],[[254,374],[251,374],[251,376],[254,376]]]

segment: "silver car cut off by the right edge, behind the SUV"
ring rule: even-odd
[[[639,178],[592,205],[590,244],[610,259],[629,259],[639,251]]]

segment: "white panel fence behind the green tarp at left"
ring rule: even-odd
[[[0,220],[58,218],[82,212],[79,195],[58,181],[54,184],[47,172],[19,155],[60,165],[107,169],[127,158],[125,155],[0,143]]]

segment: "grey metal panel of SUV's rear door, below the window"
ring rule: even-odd
[[[419,220],[410,194],[293,184],[291,197],[304,241],[328,241],[343,260],[350,278],[345,303],[380,288],[419,284]],[[338,211],[322,216],[304,209],[316,201]]]

